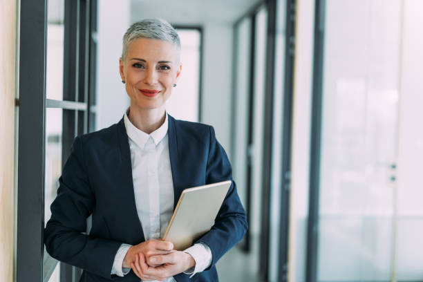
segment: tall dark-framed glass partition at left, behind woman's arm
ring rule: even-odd
[[[95,126],[96,12],[95,0],[21,1],[18,282],[79,279],[44,251],[43,231],[73,139]]]

